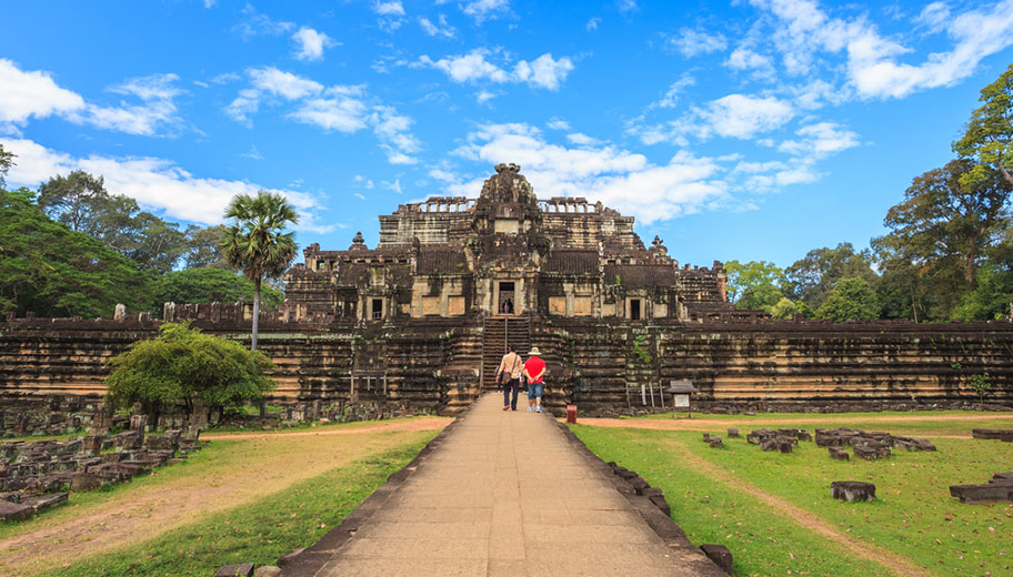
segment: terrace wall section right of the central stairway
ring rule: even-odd
[[[718,412],[976,407],[970,381],[984,373],[992,383],[986,403],[1013,407],[1007,322],[560,321],[538,333],[558,375],[550,378],[588,411],[650,409],[641,385],[672,379],[692,381],[701,391],[696,406]],[[655,388],[660,408],[656,395]]]

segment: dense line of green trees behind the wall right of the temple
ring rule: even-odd
[[[1013,64],[981,92],[956,159],[916,176],[869,250],[810,251],[786,269],[731,261],[729,295],[774,318],[997,318],[1013,303]]]

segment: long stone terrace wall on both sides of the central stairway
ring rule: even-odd
[[[249,323],[247,323],[249,324]],[[239,341],[243,323],[195,322]],[[0,322],[0,401],[104,392],[106,363],[153,321]],[[453,413],[479,393],[481,318],[398,326],[268,322],[260,343],[277,365],[280,404],[370,402]],[[661,384],[692,381],[699,408],[851,411],[976,407],[987,374],[993,408],[1013,407],[1013,324],[872,322],[630,323],[532,318],[549,364],[546,404],[582,412],[660,409]],[[651,388],[653,387],[653,388]],[[646,396],[646,391],[653,395]]]

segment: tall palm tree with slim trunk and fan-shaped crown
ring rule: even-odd
[[[257,327],[260,321],[260,283],[264,276],[279,276],[295,259],[295,241],[283,232],[299,215],[281,194],[260,191],[257,196],[237,194],[225,209],[225,217],[234,219],[225,229],[222,252],[225,261],[253,283],[253,342],[257,351]]]

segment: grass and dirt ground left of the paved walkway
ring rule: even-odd
[[[212,575],[273,563],[339,524],[447,422],[214,438],[184,463],[0,525],[0,575]]]

